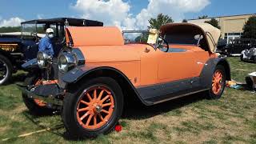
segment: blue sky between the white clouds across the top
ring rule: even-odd
[[[86,10],[81,10],[78,8],[76,10],[75,4],[79,0],[40,0],[40,1],[31,1],[31,0],[1,0],[0,5],[0,23],[3,20],[8,21],[10,18],[22,18],[22,20],[30,20],[35,18],[54,18],[54,17],[77,17],[81,18],[82,15],[90,13]],[[92,0],[81,0],[82,2],[88,2]],[[102,0],[108,2],[107,0]],[[118,1],[118,0],[114,0]],[[122,2],[128,2],[130,10],[125,13],[132,14],[135,18],[137,14],[141,13],[141,10],[146,9],[149,5],[148,0],[119,0]],[[159,2],[159,0],[152,0],[154,2]],[[172,0],[170,0],[172,1]],[[173,0],[178,1],[178,0]],[[188,10],[184,11],[181,14],[177,14],[178,10],[175,9],[175,6],[162,6],[158,8],[158,12],[170,14],[170,16],[175,19],[190,19],[198,18],[201,15],[208,15],[210,17],[222,16],[222,15],[232,15],[232,14],[254,14],[256,13],[255,6],[256,1],[254,0],[190,0],[193,2],[209,2],[206,6],[202,6],[202,10],[194,11]],[[98,0],[94,0],[98,2]],[[86,8],[85,8],[86,9]],[[168,13],[168,10],[173,11]],[[176,11],[175,11],[176,10]],[[152,9],[151,9],[152,11]],[[93,13],[93,12],[92,12]],[[95,12],[94,12],[95,13]],[[106,11],[105,11],[106,13]],[[118,13],[118,12],[117,12]],[[173,15],[172,15],[173,14]],[[98,17],[97,14],[92,14],[93,16],[89,18],[99,18],[99,20],[104,21],[101,17]],[[96,15],[96,16],[95,16]],[[112,14],[113,15],[113,14]],[[112,16],[107,15],[107,16]],[[153,14],[154,15],[154,14]],[[177,15],[177,16],[176,16]],[[106,16],[106,17],[107,17]],[[176,16],[176,17],[175,17]],[[113,17],[116,17],[115,15]],[[181,17],[181,18],[178,18]],[[114,19],[116,20],[116,19]],[[118,21],[120,18],[118,18]],[[122,21],[122,20],[121,20]],[[111,23],[111,22],[110,22]],[[122,22],[120,24],[122,26]]]

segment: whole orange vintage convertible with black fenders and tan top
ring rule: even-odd
[[[32,114],[60,111],[76,138],[113,130],[127,98],[146,106],[202,91],[221,98],[230,66],[214,53],[220,34],[206,23],[172,23],[143,44],[125,43],[117,27],[68,27],[58,58],[38,52],[23,65],[31,73],[22,98]]]

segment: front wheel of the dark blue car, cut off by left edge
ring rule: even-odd
[[[13,73],[13,66],[8,58],[0,54],[0,85],[6,84]],[[2,71],[3,70],[3,71]],[[5,72],[6,71],[6,72]]]

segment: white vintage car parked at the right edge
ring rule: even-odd
[[[256,48],[250,48],[250,50],[242,50],[241,61],[243,62],[256,62]]]

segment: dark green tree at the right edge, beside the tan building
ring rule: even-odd
[[[255,38],[256,39],[256,16],[248,19],[245,26],[243,26],[242,38]]]

